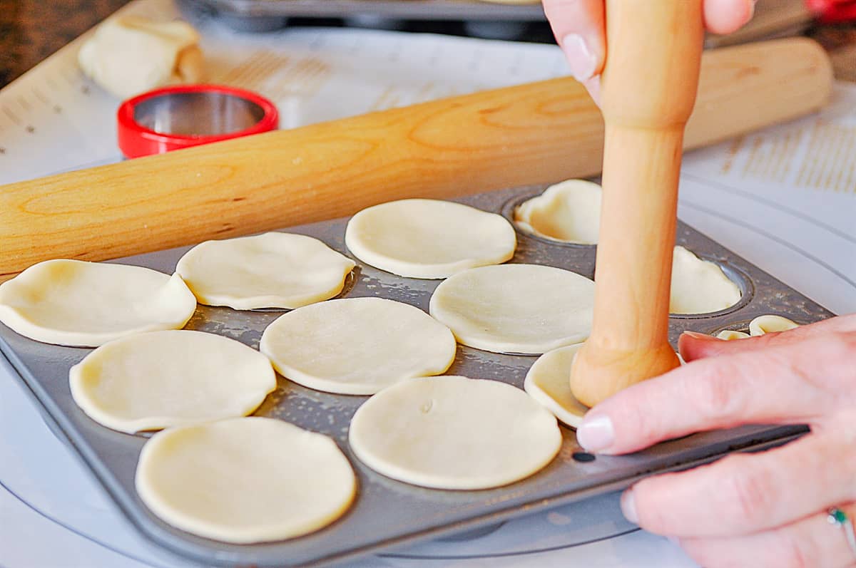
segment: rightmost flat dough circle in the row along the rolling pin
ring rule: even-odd
[[[402,199],[361,210],[345,244],[355,257],[395,275],[445,278],[474,266],[504,263],[517,238],[504,217],[435,199]]]

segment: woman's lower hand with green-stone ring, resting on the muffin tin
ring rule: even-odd
[[[686,365],[589,411],[580,445],[629,453],[750,423],[811,433],[640,481],[621,497],[625,516],[677,538],[705,568],[856,566],[827,521],[830,507],[856,519],[856,315],[741,340],[683,334],[680,347]]]

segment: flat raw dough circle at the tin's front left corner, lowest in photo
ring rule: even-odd
[[[318,530],[341,517],[356,492],[354,470],[335,441],[261,417],[153,435],[135,482],[166,523],[237,544]]]

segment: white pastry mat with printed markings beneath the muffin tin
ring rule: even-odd
[[[177,14],[168,0],[126,9]],[[212,80],[272,98],[282,127],[566,72],[555,46],[347,29],[239,34],[194,21]],[[79,41],[0,92],[0,183],[121,159],[119,103],[75,65]],[[681,218],[830,310],[856,311],[856,86],[822,113],[689,154]],[[122,518],[0,361],[0,566],[180,566]],[[614,495],[365,566],[693,566],[630,532]],[[579,546],[574,546],[579,545]],[[538,552],[540,551],[540,552]]]

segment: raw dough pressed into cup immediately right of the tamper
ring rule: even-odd
[[[672,288],[669,312],[705,314],[740,301],[740,287],[716,263],[702,260],[683,246],[672,256]]]

